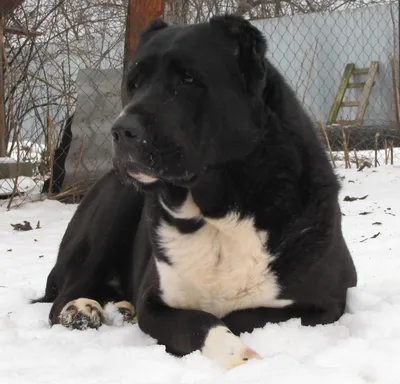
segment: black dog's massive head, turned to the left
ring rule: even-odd
[[[114,164],[142,184],[187,186],[244,158],[260,137],[266,43],[234,16],[142,32],[112,127]]]

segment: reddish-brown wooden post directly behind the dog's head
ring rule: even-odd
[[[128,13],[125,30],[124,50],[124,78],[129,59],[135,53],[140,32],[146,25],[156,17],[164,16],[165,0],[128,0]],[[122,87],[122,105],[125,106],[127,97]]]

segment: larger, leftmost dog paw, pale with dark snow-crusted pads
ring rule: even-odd
[[[103,322],[103,308],[97,301],[90,299],[72,300],[60,314],[60,324],[71,329],[97,329]]]

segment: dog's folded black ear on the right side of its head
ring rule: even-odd
[[[263,34],[249,21],[240,16],[214,16],[211,25],[222,28],[225,35],[235,44],[234,54],[238,57],[240,69],[246,77],[250,91],[263,83],[266,74],[265,54],[267,42]]]

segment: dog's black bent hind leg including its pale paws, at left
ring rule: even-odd
[[[113,172],[86,194],[68,225],[48,279],[45,299],[54,301],[51,325],[98,328],[108,321],[104,306],[109,302],[117,303],[126,321],[133,321],[133,307],[119,302],[133,299],[132,246],[143,202],[142,195],[133,186],[121,185]]]

